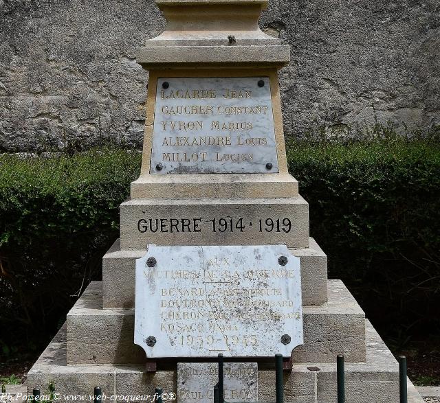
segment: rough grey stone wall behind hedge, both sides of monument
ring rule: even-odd
[[[0,0],[0,150],[142,143],[148,74],[135,47],[164,29],[153,0]],[[270,0],[287,135],[440,124],[439,0]]]

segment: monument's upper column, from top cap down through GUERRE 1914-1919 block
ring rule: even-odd
[[[307,248],[308,205],[287,171],[278,87],[289,47],[259,28],[267,1],[156,3],[167,26],[137,51],[150,73],[144,152],[121,206],[121,248]],[[228,217],[232,229],[219,236],[216,220]]]

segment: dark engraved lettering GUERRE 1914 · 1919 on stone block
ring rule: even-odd
[[[137,221],[137,231],[140,233],[191,233],[201,232],[201,218],[141,218]],[[206,221],[205,221],[206,222]],[[207,221],[214,233],[242,232],[256,225],[257,231],[289,233],[292,230],[290,218],[260,218],[251,221],[244,218],[212,218]]]

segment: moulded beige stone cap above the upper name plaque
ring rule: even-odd
[[[198,65],[286,65],[289,49],[262,32],[261,11],[267,0],[156,0],[166,30],[137,48],[146,69]]]

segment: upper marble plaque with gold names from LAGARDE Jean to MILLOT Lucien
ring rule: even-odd
[[[150,172],[278,172],[269,78],[157,79]]]

